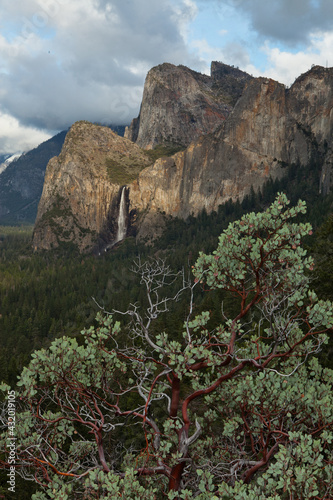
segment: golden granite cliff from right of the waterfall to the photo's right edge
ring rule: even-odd
[[[314,68],[290,90],[271,79],[251,80],[218,130],[140,173],[130,189],[131,206],[183,218],[203,208],[211,212],[230,198],[242,200],[251,186],[257,190],[269,177],[281,177],[287,164],[308,165],[324,150],[321,184],[327,191],[332,119],[321,115],[331,113],[330,73]],[[307,107],[300,102],[306,81],[321,95],[318,109],[313,96]]]

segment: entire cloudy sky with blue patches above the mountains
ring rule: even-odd
[[[129,123],[163,62],[290,85],[332,49],[332,0],[1,0],[0,154],[81,119]]]

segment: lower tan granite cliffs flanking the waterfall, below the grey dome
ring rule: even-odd
[[[169,81],[168,67],[166,72]],[[258,189],[269,177],[282,176],[287,165],[309,166],[314,159],[320,162],[318,190],[328,192],[332,177],[332,92],[333,69],[318,66],[301,75],[290,89],[267,78],[247,79],[236,104],[216,129],[153,165],[139,147],[139,135],[136,144],[122,138],[106,140],[103,127],[86,124],[84,138],[73,147],[71,131],[61,155],[47,168],[35,248],[56,245],[64,231],[66,238],[60,239],[75,242],[81,251],[92,249],[98,241],[103,242],[99,248],[112,245],[122,192],[126,196],[127,231],[135,227],[139,237],[147,239],[156,235],[157,228],[161,230],[160,214],[186,218],[203,208],[216,210],[230,198],[242,199],[251,186]],[[149,116],[144,116],[141,109],[140,128],[147,132]],[[81,126],[74,125],[73,131]],[[155,139],[156,135],[145,147],[151,147]],[[127,158],[126,168],[119,161],[117,148]],[[117,177],[122,172],[126,175]],[[68,210],[68,215],[58,214],[50,223],[47,214],[55,207]]]

